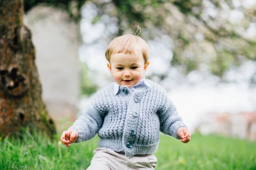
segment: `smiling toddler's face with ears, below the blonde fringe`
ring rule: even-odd
[[[111,55],[108,69],[117,84],[131,88],[142,80],[149,64],[149,62],[146,64],[144,62],[140,49],[134,48],[134,54],[116,53]]]

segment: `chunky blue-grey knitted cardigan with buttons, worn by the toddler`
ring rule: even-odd
[[[179,139],[177,130],[186,127],[166,91],[146,79],[145,84],[119,87],[114,95],[114,83],[93,95],[84,113],[69,129],[78,131],[76,143],[98,133],[99,147],[125,151],[126,156],[154,153],[160,131]]]

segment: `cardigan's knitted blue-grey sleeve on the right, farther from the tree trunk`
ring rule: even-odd
[[[177,130],[186,127],[181,117],[178,116],[175,105],[168,99],[166,92],[162,89],[162,98],[158,109],[160,119],[160,131],[179,139]]]

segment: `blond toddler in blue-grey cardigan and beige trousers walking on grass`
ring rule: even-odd
[[[61,135],[65,146],[98,133],[99,148],[87,170],[154,170],[160,131],[190,141],[191,134],[165,90],[145,79],[148,45],[136,35],[113,39],[105,52],[111,85],[92,96],[90,104]]]

